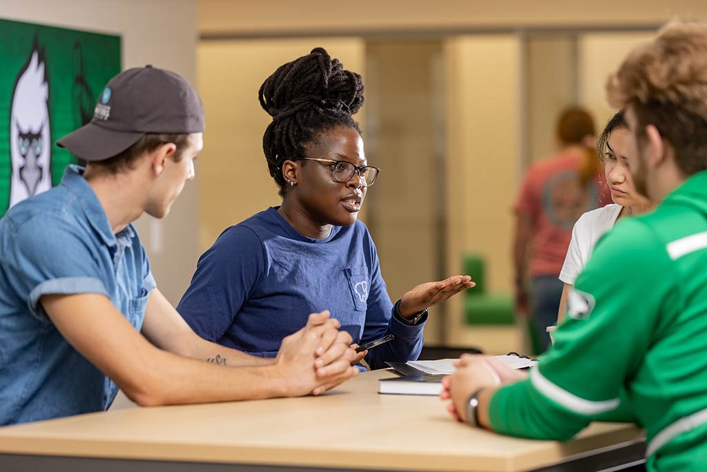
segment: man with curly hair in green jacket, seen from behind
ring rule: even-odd
[[[458,420],[536,439],[633,419],[648,471],[706,471],[707,27],[665,27],[607,94],[627,110],[636,188],[660,205],[599,241],[530,375],[464,356],[441,396]]]

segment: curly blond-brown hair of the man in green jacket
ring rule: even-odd
[[[707,169],[707,25],[666,25],[609,76],[607,98],[633,108],[639,138],[658,128],[683,173]]]

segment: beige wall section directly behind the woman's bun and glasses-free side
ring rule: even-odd
[[[280,205],[262,136],[271,117],[260,108],[262,82],[285,62],[323,46],[344,67],[363,70],[363,42],[356,38],[206,41],[199,44],[199,93],[207,131],[197,173],[199,248],[205,251],[228,226]],[[362,122],[364,111],[356,115]]]

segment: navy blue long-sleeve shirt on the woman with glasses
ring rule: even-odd
[[[373,369],[420,354],[424,320],[411,326],[392,316],[378,254],[361,221],[312,239],[275,208],[255,214],[223,231],[201,255],[177,306],[202,338],[262,357],[274,357],[285,336],[323,310],[354,343],[395,335],[368,352]]]

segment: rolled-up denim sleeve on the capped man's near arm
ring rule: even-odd
[[[78,229],[63,219],[30,219],[3,241],[11,285],[33,316],[46,320],[40,299],[48,294],[97,293],[109,297],[100,267]]]

